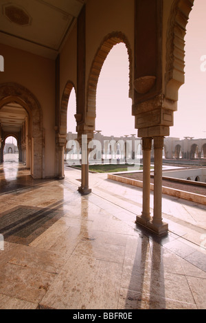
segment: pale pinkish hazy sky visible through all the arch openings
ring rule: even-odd
[[[178,111],[170,137],[206,137],[206,0],[195,0],[185,36],[185,85],[179,90]],[[205,55],[205,60],[201,57]],[[135,133],[135,118],[131,115],[132,101],[128,98],[128,54],[124,44],[118,44],[108,54],[100,78],[96,98],[96,130],[104,135]],[[69,99],[69,131],[76,132],[74,91]]]

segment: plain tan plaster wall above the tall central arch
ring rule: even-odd
[[[86,82],[91,64],[104,38],[122,32],[134,52],[135,1],[89,0],[86,7]]]

